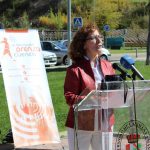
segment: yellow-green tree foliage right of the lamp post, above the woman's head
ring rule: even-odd
[[[66,4],[67,0],[63,2]],[[118,27],[121,13],[111,0],[72,0],[72,18],[82,17],[84,24],[95,22],[101,29],[105,24]]]

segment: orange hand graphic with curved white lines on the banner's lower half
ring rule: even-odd
[[[28,97],[24,88],[20,88],[19,93],[21,105],[19,108],[17,105],[13,106],[14,114],[12,116],[16,136],[19,136],[17,144],[27,141],[26,137],[31,139],[28,141],[31,144],[35,142],[35,137],[37,138],[36,142],[53,140],[56,133],[53,127],[49,126],[49,121],[53,119],[54,115],[53,109],[50,106],[42,107],[35,96]],[[41,93],[38,94],[38,97],[42,99]],[[23,122],[19,120],[23,120]]]

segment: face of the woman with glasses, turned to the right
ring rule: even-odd
[[[89,34],[86,39],[84,45],[86,55],[89,57],[95,57],[96,55],[100,54],[102,45],[102,36],[97,30],[95,30],[93,33]]]

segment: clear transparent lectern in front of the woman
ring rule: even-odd
[[[150,110],[149,80],[99,83],[98,89],[90,91],[87,88],[82,92],[80,97],[80,101],[74,105],[75,150],[79,150],[78,133],[80,130],[101,132],[102,141],[99,141],[101,143],[99,149],[115,150],[117,148],[115,144],[112,144],[112,139],[109,137],[109,134],[113,131],[119,133],[120,128],[130,120],[145,122],[145,120],[147,121],[146,117],[150,115],[147,114],[148,112],[140,110],[144,110],[145,107],[148,107],[147,109]],[[118,110],[122,110],[122,114],[120,113],[118,115]],[[124,111],[125,114],[128,111],[128,115],[122,117]],[[114,126],[111,126],[110,123],[113,114],[116,121]],[[130,129],[126,129],[122,134],[137,133],[137,128],[137,126],[133,126]],[[126,144],[128,144],[127,140]],[[125,149],[126,144],[122,144],[121,149]]]

